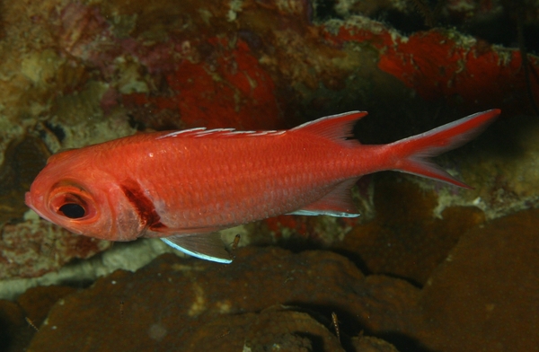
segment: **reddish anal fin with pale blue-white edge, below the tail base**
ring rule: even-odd
[[[352,194],[350,192],[350,189],[357,181],[358,179],[342,181],[323,198],[289,214],[296,216],[359,216],[358,209],[354,205]]]

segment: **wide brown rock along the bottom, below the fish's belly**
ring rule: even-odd
[[[338,347],[331,312],[347,343],[360,330],[402,330],[418,295],[402,280],[364,277],[331,252],[247,248],[226,266],[163,255],[58,301],[28,351],[232,351],[270,341],[319,347],[321,340]],[[275,304],[306,311],[264,311]],[[302,335],[301,324],[312,334]]]

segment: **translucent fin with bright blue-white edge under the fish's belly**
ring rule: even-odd
[[[202,260],[225,264],[232,262],[219,233],[175,234],[161,240],[175,250]]]

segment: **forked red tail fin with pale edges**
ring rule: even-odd
[[[470,186],[456,180],[437,164],[431,163],[429,158],[458,148],[472,140],[482,133],[499,116],[499,113],[499,109],[478,112],[420,135],[404,138],[387,145],[397,154],[397,160],[393,164],[392,170],[441,180],[470,189]]]

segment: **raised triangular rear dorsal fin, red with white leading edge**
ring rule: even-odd
[[[315,119],[306,122],[290,131],[305,132],[315,136],[322,136],[338,142],[340,145],[358,145],[357,139],[353,138],[352,129],[358,119],[367,116],[367,111],[350,111],[344,114],[326,116],[325,118]]]

